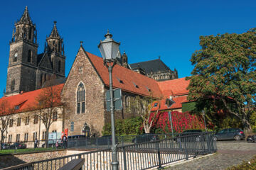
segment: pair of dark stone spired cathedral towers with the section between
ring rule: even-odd
[[[27,6],[14,26],[4,96],[41,89],[50,81],[63,81],[64,44],[56,22],[46,38],[44,52],[41,54],[38,54],[36,24],[31,21]]]

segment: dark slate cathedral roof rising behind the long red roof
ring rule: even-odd
[[[146,74],[149,74],[151,72],[164,72],[171,70],[160,59],[150,60],[146,62],[137,62],[134,64],[129,64],[129,66],[131,67],[131,69],[138,69],[138,67],[140,67],[145,71]]]

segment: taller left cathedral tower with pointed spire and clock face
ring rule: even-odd
[[[14,24],[10,42],[6,92],[4,96],[36,88],[37,38],[36,24],[31,21],[26,6],[20,20]]]

